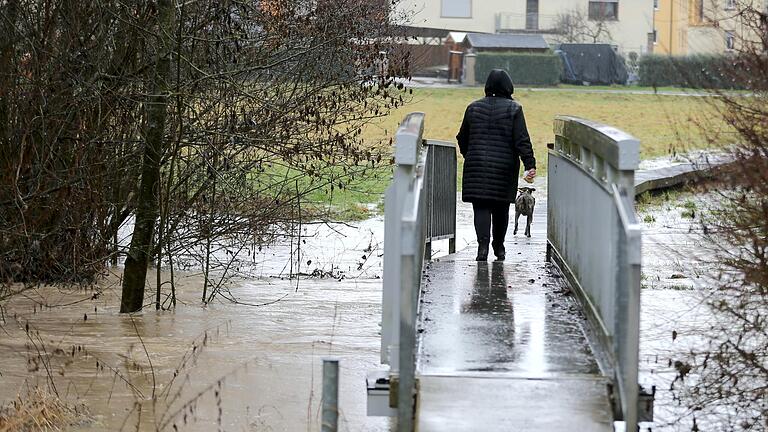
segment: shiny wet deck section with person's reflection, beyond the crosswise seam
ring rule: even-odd
[[[599,372],[578,305],[545,263],[545,235],[511,237],[506,262],[478,263],[465,251],[430,264],[422,373]]]

